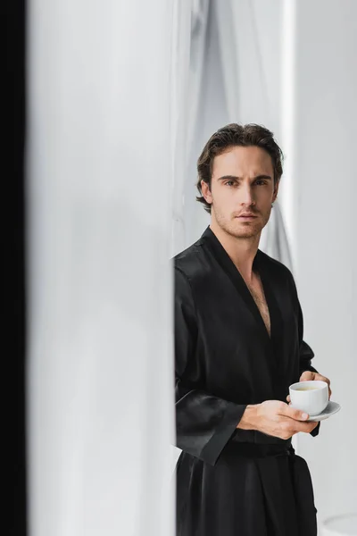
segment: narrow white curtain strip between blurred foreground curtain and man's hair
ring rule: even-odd
[[[195,194],[187,196],[187,184],[193,178],[187,172],[187,162],[195,146],[195,128],[203,92],[203,66],[209,0],[176,0],[177,34],[174,38],[174,188],[173,188],[173,239],[172,255],[187,247],[192,236],[191,214]],[[191,192],[190,192],[191,194]],[[187,241],[187,235],[189,237]]]

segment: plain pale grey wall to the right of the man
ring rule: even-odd
[[[343,406],[299,438],[320,519],[357,510],[356,21],[355,0],[297,2],[297,283],[305,339]]]

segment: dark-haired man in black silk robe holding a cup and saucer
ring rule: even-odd
[[[211,224],[174,259],[178,536],[317,533],[291,438],[319,426],[286,395],[295,381],[329,381],[311,366],[291,272],[258,249],[281,160],[270,130],[238,124],[198,160]]]

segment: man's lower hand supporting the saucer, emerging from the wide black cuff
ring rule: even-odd
[[[310,433],[318,423],[306,423],[309,415],[279,400],[266,400],[256,406],[247,406],[237,428],[258,430],[281,440],[290,439],[295,433]]]

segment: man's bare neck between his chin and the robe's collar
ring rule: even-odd
[[[210,229],[220,244],[228,253],[230,259],[236,265],[243,279],[250,283],[253,280],[253,261],[258,251],[261,234],[250,239],[237,239],[222,230],[215,222],[211,222]]]

